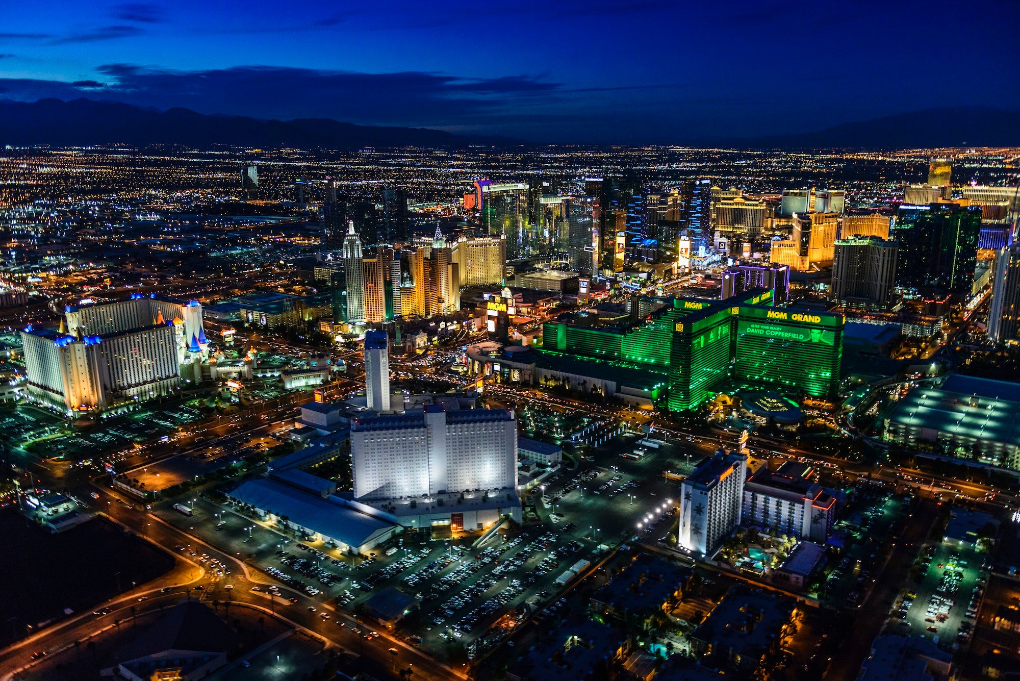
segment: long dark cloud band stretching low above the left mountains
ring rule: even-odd
[[[366,73],[282,66],[197,71],[105,64],[100,77],[75,83],[3,80],[10,99],[113,100],[159,109],[256,118],[334,118],[386,125],[483,124],[490,115],[530,110],[560,97],[562,84],[520,74],[493,78],[427,71]],[[314,97],[280,96],[314,93]]]

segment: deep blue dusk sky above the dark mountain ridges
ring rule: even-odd
[[[670,143],[1020,108],[1020,2],[0,3],[0,98]]]

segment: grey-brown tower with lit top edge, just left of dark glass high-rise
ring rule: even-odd
[[[849,307],[881,309],[892,299],[898,245],[878,237],[835,243],[832,298]]]

